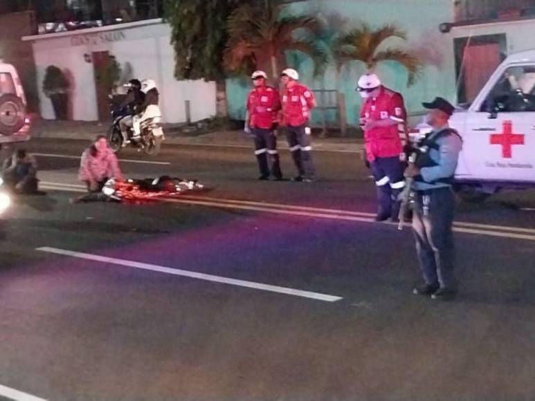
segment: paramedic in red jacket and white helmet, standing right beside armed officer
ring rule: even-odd
[[[398,197],[403,180],[401,136],[406,110],[401,94],[381,85],[377,75],[368,73],[360,77],[357,91],[364,99],[361,108],[361,127],[364,130],[366,158],[377,185],[379,208],[376,221],[391,218],[397,221]]]

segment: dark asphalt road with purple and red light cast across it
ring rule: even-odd
[[[127,151],[127,176],[212,191],[71,205],[84,145],[28,144],[53,189],[3,222],[0,399],[535,399],[534,192],[457,207],[461,292],[437,303],[356,154],[277,183],[250,149]]]

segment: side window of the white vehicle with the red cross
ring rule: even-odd
[[[507,68],[480,111],[535,111],[535,66]]]

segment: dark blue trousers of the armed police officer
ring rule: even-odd
[[[430,286],[455,289],[453,274],[453,210],[451,187],[417,191],[412,215],[421,273]]]

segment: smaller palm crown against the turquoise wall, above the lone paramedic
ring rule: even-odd
[[[423,64],[419,59],[406,50],[400,48],[387,47],[380,50],[387,39],[399,38],[406,40],[406,33],[397,26],[388,24],[376,30],[368,24],[350,30],[336,41],[334,55],[336,68],[340,71],[343,64],[352,60],[363,62],[368,71],[373,71],[380,62],[398,62],[408,71],[408,83],[410,86],[415,83],[421,74]]]

